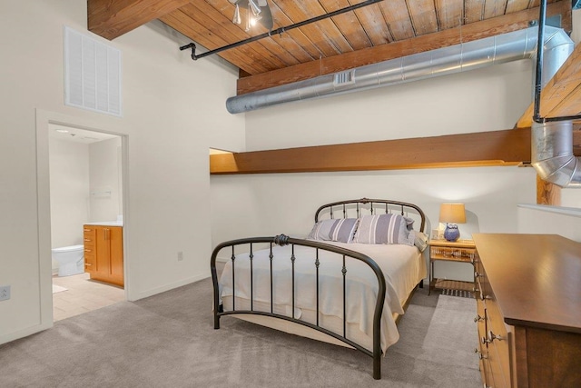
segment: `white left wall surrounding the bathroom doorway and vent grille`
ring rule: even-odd
[[[209,275],[208,148],[244,143],[228,114],[237,72],[193,62],[188,42],[145,25],[106,42],[123,55],[123,117],[64,106],[63,29],[86,32],[86,2],[4,2],[0,13],[0,343],[52,325],[49,123],[123,135],[125,284],[131,300]],[[89,33],[87,33],[89,34]],[[178,262],[176,253],[183,252]]]

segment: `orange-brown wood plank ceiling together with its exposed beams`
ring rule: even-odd
[[[268,5],[273,30],[276,30],[362,2],[268,0]],[[570,32],[571,1],[549,0],[548,3],[547,16],[560,15],[561,26]],[[247,0],[241,0],[240,4],[242,24],[235,25],[232,23],[235,6],[229,0],[88,0],[88,28],[97,35],[114,39],[159,19],[191,38],[196,45],[214,50],[267,32],[260,24],[245,31]],[[237,91],[241,95],[527,28],[538,19],[538,5],[539,0],[383,0],[222,51],[219,55],[240,69]],[[579,50],[577,47],[574,55],[577,59],[569,61],[568,70],[562,71],[552,83],[553,89],[543,94],[541,106],[547,112],[550,108],[551,116],[580,113]],[[204,51],[199,48],[197,53]],[[531,112],[529,108],[516,127],[530,126]],[[576,154],[581,150],[580,134],[577,124]],[[461,158],[456,162],[466,163]],[[381,165],[385,167],[385,163]]]

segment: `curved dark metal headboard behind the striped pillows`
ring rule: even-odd
[[[419,231],[425,233],[426,215],[418,205],[389,199],[361,198],[323,204],[315,213],[315,223],[320,218],[357,218],[365,214],[389,213],[406,215],[419,221]]]

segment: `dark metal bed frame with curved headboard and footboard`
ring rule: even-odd
[[[328,215],[330,216],[330,218],[334,218],[334,215],[337,213],[335,212],[335,214],[333,213],[333,208],[334,207],[340,207],[340,209],[342,210],[342,217],[341,218],[347,218],[348,212],[352,211],[352,207],[353,205],[355,206],[355,211],[357,213],[357,217],[359,217],[361,211],[363,210],[362,205],[367,205],[369,204],[369,213],[370,214],[378,214],[379,211],[385,211],[386,214],[391,213],[393,210],[398,209],[401,211],[401,214],[404,215],[406,214],[406,212],[413,212],[414,214],[418,214],[421,217],[421,224],[419,227],[419,231],[420,232],[424,232],[424,228],[426,226],[426,216],[425,214],[422,212],[422,210],[419,208],[419,206],[415,205],[415,204],[408,204],[408,203],[403,203],[403,202],[399,202],[399,201],[391,201],[391,200],[381,200],[381,199],[368,199],[368,198],[361,198],[361,199],[357,199],[357,200],[348,200],[348,201],[340,201],[340,202],[335,202],[332,204],[324,204],[322,206],[320,206],[320,208],[317,210],[317,212],[315,213],[315,223],[319,221],[320,219],[320,215],[322,214],[326,214],[327,212],[329,213]],[[374,204],[376,204],[376,206],[374,207]],[[271,311],[270,312],[263,312],[263,311],[256,311],[253,309],[253,274],[252,274],[252,258],[254,257],[253,254],[253,248],[254,248],[254,244],[269,244],[270,246],[270,254],[269,254],[269,258],[271,261]],[[288,316],[288,315],[283,315],[280,313],[274,313],[274,309],[273,309],[273,280],[272,280],[272,261],[273,260],[279,260],[279,259],[285,259],[284,257],[281,258],[275,258],[274,254],[272,253],[272,247],[273,244],[277,244],[277,245],[291,245],[291,257],[286,257],[287,260],[291,260],[291,271],[292,271],[292,316]],[[249,254],[249,258],[250,258],[250,270],[251,270],[251,309],[250,310],[236,310],[236,304],[235,304],[235,296],[232,298],[232,310],[231,311],[224,311],[222,308],[222,305],[220,304],[220,295],[219,295],[219,284],[218,284],[218,274],[216,272],[216,258],[218,256],[218,254],[220,253],[220,251],[222,251],[222,249],[227,248],[227,247],[231,247],[231,264],[232,264],[232,287],[233,290],[235,291],[235,262],[236,262],[236,254],[235,254],[235,247],[239,246],[239,245],[248,245],[250,247],[250,254]],[[311,247],[315,249],[315,277],[316,277],[316,301],[317,301],[317,316],[316,316],[316,323],[308,323],[305,321],[301,321],[298,318],[295,318],[294,315],[294,311],[295,311],[295,291],[297,291],[295,289],[295,267],[294,267],[294,263],[295,263],[295,255],[294,255],[294,247],[296,245],[299,246],[307,246],[307,247]],[[320,251],[328,251],[334,254],[338,254],[340,256],[342,256],[342,269],[341,269],[341,273],[342,273],[342,290],[343,290],[343,333],[342,335],[339,333],[334,333],[328,329],[325,329],[324,327],[321,327],[319,325],[319,252]],[[368,349],[364,348],[363,346],[361,346],[359,343],[354,343],[353,341],[351,341],[350,339],[347,338],[346,335],[346,319],[345,319],[345,315],[346,315],[346,275],[347,275],[347,267],[346,267],[346,257],[350,257],[352,259],[355,260],[359,260],[367,265],[369,265],[369,268],[373,271],[373,273],[376,275],[377,279],[378,279],[378,284],[379,284],[379,292],[378,292],[378,299],[376,301],[375,304],[375,310],[373,313],[373,335],[372,335],[372,341],[373,341],[373,351],[370,352]],[[278,318],[281,320],[285,320],[285,321],[290,321],[293,323],[299,323],[303,326],[307,326],[310,327],[311,329],[314,329],[318,332],[321,333],[325,333],[330,335],[333,338],[336,338],[337,340],[343,342],[343,343],[347,343],[350,346],[352,346],[353,348],[359,350],[359,352],[361,353],[365,353],[367,355],[369,355],[371,358],[373,358],[373,378],[376,380],[379,380],[381,378],[381,343],[380,343],[380,322],[381,322],[381,313],[383,311],[383,304],[385,302],[385,293],[386,293],[386,283],[385,283],[385,277],[381,271],[381,269],[379,268],[379,265],[377,263],[375,263],[375,261],[373,259],[371,259],[369,256],[365,255],[365,254],[360,254],[359,252],[355,252],[355,251],[351,251],[349,249],[344,249],[338,246],[334,246],[334,245],[330,245],[330,244],[324,244],[324,243],[320,243],[319,241],[313,241],[313,240],[303,240],[303,239],[297,239],[297,238],[291,238],[285,234],[279,234],[273,237],[251,237],[251,238],[243,238],[243,239],[239,239],[239,240],[232,240],[232,241],[227,241],[224,242],[222,244],[219,244],[218,246],[216,246],[216,248],[213,250],[212,252],[212,259],[210,262],[210,267],[212,270],[212,283],[213,283],[213,289],[214,289],[214,293],[213,293],[213,316],[214,316],[214,329],[220,329],[220,318],[223,315],[229,315],[229,314],[254,314],[254,315],[264,315],[264,316],[270,316],[270,317],[274,317],[274,318]],[[419,282],[419,286],[422,287],[422,282]],[[234,293],[235,294],[235,293]]]

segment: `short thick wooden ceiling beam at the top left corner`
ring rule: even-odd
[[[87,0],[89,31],[113,40],[162,17],[189,0]]]

